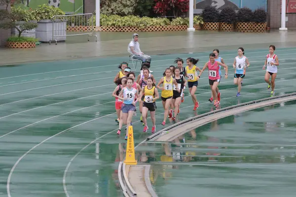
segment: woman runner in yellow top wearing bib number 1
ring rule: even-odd
[[[162,87],[160,87],[160,84],[162,84]],[[163,122],[161,123],[162,126],[165,126],[165,121],[169,115],[169,107],[171,105],[172,98],[173,98],[173,84],[175,84],[177,92],[181,92],[180,89],[178,88],[178,83],[176,79],[172,77],[172,70],[170,68],[166,68],[165,76],[162,77],[157,84],[157,88],[161,89],[161,100],[164,108],[164,119],[163,119]],[[172,115],[172,109],[171,109],[170,118],[172,116],[173,115]]]

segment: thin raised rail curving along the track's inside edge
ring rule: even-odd
[[[290,94],[285,94],[285,95],[280,95],[280,96],[275,96],[275,97],[269,97],[269,98],[265,98],[265,99],[253,100],[253,101],[249,101],[249,102],[240,103],[240,104],[237,104],[237,105],[232,105],[232,106],[229,106],[229,107],[224,107],[222,109],[218,109],[218,110],[215,110],[215,111],[210,111],[210,112],[207,112],[207,113],[203,113],[201,115],[198,115],[198,116],[195,116],[195,117],[192,117],[192,118],[188,118],[186,120],[180,121],[179,123],[176,123],[176,124],[171,125],[171,126],[169,126],[167,128],[164,128],[164,129],[162,129],[162,130],[148,136],[145,141],[148,141],[148,140],[156,137],[157,135],[159,135],[163,131],[168,131],[168,130],[173,129],[173,128],[177,127],[177,126],[183,125],[185,123],[188,123],[190,121],[193,121],[193,120],[196,120],[196,119],[208,116],[208,115],[212,115],[212,114],[215,114],[215,113],[218,113],[218,112],[221,112],[221,111],[226,111],[228,109],[233,109],[233,108],[237,108],[237,107],[241,107],[241,106],[255,104],[255,103],[266,101],[266,100],[279,99],[279,98],[291,97],[291,96],[296,96],[296,93],[290,93]],[[138,144],[138,146],[139,146],[139,144]],[[136,147],[138,147],[138,146],[136,146]]]

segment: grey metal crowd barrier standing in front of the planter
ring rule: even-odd
[[[59,15],[52,17],[52,39],[49,40],[49,44],[52,41],[66,40],[67,36],[73,35],[88,35],[95,36],[97,41],[97,35],[94,35],[94,23],[93,14],[72,14],[72,15]]]

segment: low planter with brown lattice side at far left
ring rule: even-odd
[[[34,37],[11,36],[7,39],[7,46],[10,48],[33,48],[36,47],[37,41],[38,39]]]

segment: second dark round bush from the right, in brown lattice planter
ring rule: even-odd
[[[243,7],[237,12],[236,28],[238,32],[252,32],[253,30],[253,12],[250,8]]]

